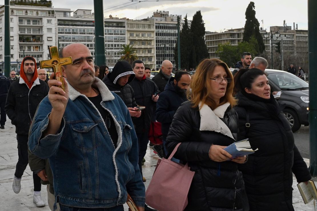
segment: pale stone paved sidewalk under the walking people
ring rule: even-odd
[[[18,160],[15,126],[7,119],[5,129],[0,129],[0,211],[49,211],[45,206],[37,208],[33,203],[33,177],[29,166],[26,168],[21,181],[21,191],[15,194],[12,190],[12,181],[15,172],[15,165]],[[155,165],[159,157],[148,148],[145,156],[146,162],[143,168],[143,175],[146,177],[145,185],[151,181]],[[305,159],[307,165],[309,160]],[[314,203],[305,205],[296,186],[295,177],[293,181],[293,205],[296,211],[313,211]],[[316,183],[316,182],[315,182]],[[42,198],[47,204],[46,186],[42,185]],[[125,206],[125,210],[128,210]],[[172,210],[171,210],[172,211]]]

